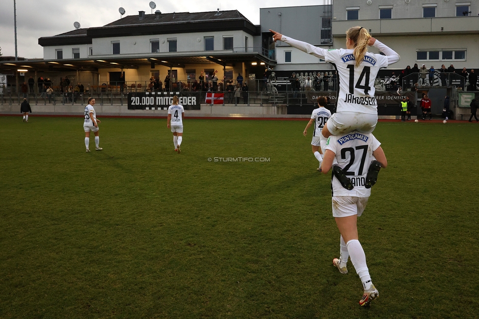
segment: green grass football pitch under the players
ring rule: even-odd
[[[378,124],[364,309],[306,123],[0,117],[0,318],[477,318],[479,126]]]

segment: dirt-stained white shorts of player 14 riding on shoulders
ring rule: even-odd
[[[372,133],[377,124],[377,114],[336,112],[326,126],[333,135],[344,135],[352,131]]]

